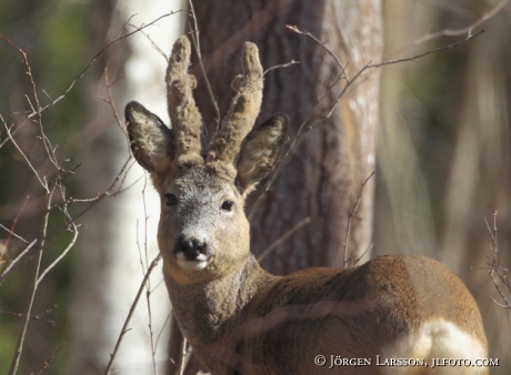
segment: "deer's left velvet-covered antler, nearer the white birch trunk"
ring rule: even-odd
[[[202,116],[192,95],[197,80],[188,74],[190,52],[190,41],[180,37],[172,47],[166,77],[169,115],[176,134],[173,163],[187,168],[204,161],[201,156]]]

